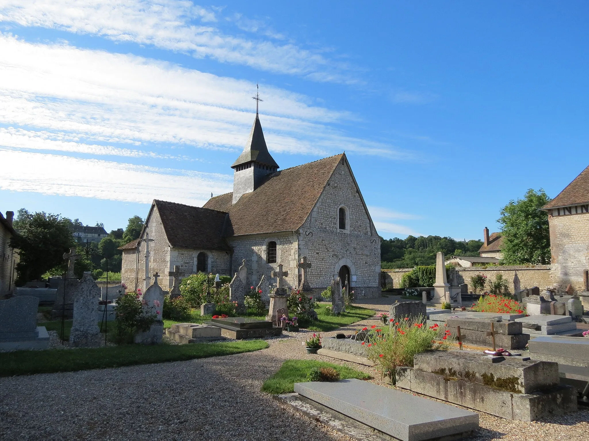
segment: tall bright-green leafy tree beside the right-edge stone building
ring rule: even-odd
[[[501,210],[498,222],[504,236],[501,249],[504,263],[550,263],[548,213],[541,210],[549,201],[543,189],[529,189],[524,199],[509,201]]]

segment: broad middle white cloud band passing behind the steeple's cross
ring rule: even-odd
[[[246,142],[253,83],[133,55],[31,44],[11,35],[0,34],[0,47],[0,121],[13,132],[41,133],[37,138],[58,133],[56,138],[80,142],[77,151],[104,143],[110,153],[100,154],[128,156],[139,153],[112,144],[130,144],[149,156],[146,144],[239,151]],[[278,88],[264,87],[263,94],[261,119],[271,151],[411,158],[333,128],[350,118],[346,112],[312,106],[309,98]],[[28,148],[35,148],[34,142]]]

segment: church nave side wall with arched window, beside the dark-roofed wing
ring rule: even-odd
[[[267,263],[268,243],[276,242],[276,263]],[[286,288],[297,288],[297,258],[298,242],[294,233],[269,233],[247,236],[234,236],[229,240],[233,247],[233,273],[246,259],[247,283],[246,286],[257,286],[262,278],[270,283],[276,283],[276,278],[271,278],[270,273],[278,270],[278,264],[282,263],[283,271],[288,271],[289,276],[284,278]]]

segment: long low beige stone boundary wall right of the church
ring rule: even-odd
[[[383,288],[399,288],[401,278],[404,274],[410,272],[412,268],[401,269],[383,269],[380,273]],[[513,280],[515,272],[519,278],[519,286],[521,289],[532,288],[538,286],[541,291],[548,286],[552,286],[550,278],[550,265],[504,265],[504,266],[473,266],[472,268],[462,268],[458,266],[455,269],[454,285],[467,283],[470,288],[472,276],[482,274],[487,276],[487,279],[495,280],[498,274],[501,274],[509,285],[509,292],[513,292]],[[448,280],[450,283],[450,280]]]

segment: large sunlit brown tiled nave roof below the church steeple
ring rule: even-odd
[[[303,225],[345,153],[268,175],[231,205],[233,193],[209,199],[203,208],[229,213],[226,236],[296,230]]]

